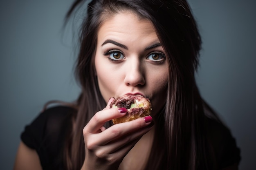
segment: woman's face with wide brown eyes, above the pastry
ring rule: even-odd
[[[150,21],[117,13],[99,28],[95,68],[99,89],[110,97],[141,94],[150,99],[153,115],[166,102],[168,64]]]

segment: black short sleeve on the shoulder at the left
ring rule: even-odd
[[[25,127],[21,140],[29,148],[36,150],[44,170],[61,169],[62,147],[67,132],[71,128],[71,117],[75,110],[56,106],[40,113]]]

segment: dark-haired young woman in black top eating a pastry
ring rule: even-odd
[[[76,0],[67,17],[82,0]],[[92,0],[82,25],[73,105],[47,108],[21,135],[15,170],[237,170],[235,139],[200,97],[201,39],[185,0]],[[126,123],[114,98],[152,114]]]

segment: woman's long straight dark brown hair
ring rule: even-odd
[[[76,0],[66,18],[82,2]],[[214,169],[213,152],[209,151],[204,123],[204,106],[209,107],[200,97],[194,76],[201,38],[186,0],[92,0],[88,4],[76,62],[76,77],[82,92],[72,133],[64,150],[67,169],[81,168],[85,158],[82,130],[91,117],[106,106],[94,68],[97,32],[103,22],[103,14],[106,16],[123,10],[131,10],[153,23],[169,66],[166,104],[154,120],[156,134],[146,169]],[[210,114],[218,119],[212,110]],[[111,123],[108,122],[107,126]]]

